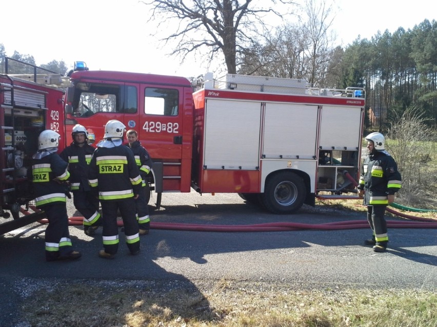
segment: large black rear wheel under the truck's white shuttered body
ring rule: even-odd
[[[300,176],[283,171],[266,181],[261,195],[267,210],[277,214],[293,213],[304,204],[306,187]]]

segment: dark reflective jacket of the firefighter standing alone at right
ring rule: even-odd
[[[364,205],[388,205],[388,194],[401,188],[401,174],[387,152],[372,151],[364,159],[358,189],[364,189]]]

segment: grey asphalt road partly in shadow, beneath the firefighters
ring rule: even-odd
[[[69,213],[78,215],[71,203]],[[306,206],[293,215],[274,215],[246,204],[236,194],[165,193],[161,209],[151,212],[152,222],[203,225],[325,224],[364,219],[364,213]],[[2,316],[16,315],[16,303],[23,296],[20,282],[29,278],[185,280],[194,285],[200,280],[225,278],[280,280],[309,288],[437,289],[435,229],[389,229],[385,253],[363,245],[370,236],[368,228],[272,232],[151,229],[141,237],[139,255],[128,254],[121,232],[116,258],[105,260],[97,256],[102,249],[101,229],[89,237],[82,226],[71,226],[73,245],[82,251],[82,258],[46,263],[45,227],[35,223],[0,236],[0,322]]]

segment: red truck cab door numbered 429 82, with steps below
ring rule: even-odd
[[[138,136],[154,162],[155,174],[162,171],[162,176],[155,176],[157,192],[160,185],[163,191],[188,192],[191,187],[192,115],[183,111],[184,90],[176,85],[141,85]]]

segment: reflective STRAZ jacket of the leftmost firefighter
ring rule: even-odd
[[[55,152],[37,152],[33,156],[32,176],[37,208],[67,202],[65,181],[70,177],[67,165]]]

